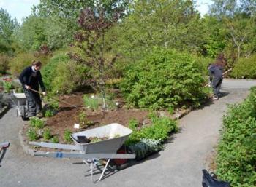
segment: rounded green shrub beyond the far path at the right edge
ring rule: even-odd
[[[256,55],[240,58],[235,63],[231,76],[238,79],[256,79]]]

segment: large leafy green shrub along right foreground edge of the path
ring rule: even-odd
[[[217,174],[231,186],[256,186],[256,88],[229,107],[217,147]]]

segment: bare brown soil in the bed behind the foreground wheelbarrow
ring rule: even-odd
[[[78,115],[81,111],[86,113],[86,119],[94,122],[93,125],[86,129],[99,127],[105,124],[118,123],[128,126],[131,119],[136,119],[142,124],[143,121],[148,121],[148,111],[138,109],[118,108],[113,111],[92,111],[83,106],[83,95],[77,93],[75,95],[63,96],[61,98],[66,103],[59,103],[58,113],[46,120],[45,127],[50,128],[52,135],[59,136],[59,143],[65,143],[64,131],[79,132],[85,129],[75,129],[74,124],[79,124]],[[78,108],[69,106],[67,103],[78,106]],[[42,140],[42,139],[41,139]],[[41,141],[39,140],[39,141]]]

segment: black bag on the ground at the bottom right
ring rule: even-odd
[[[203,171],[203,187],[230,187],[230,183],[217,180],[216,175],[210,175],[207,170]]]

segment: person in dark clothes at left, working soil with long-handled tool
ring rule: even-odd
[[[28,118],[32,116],[42,117],[42,100],[38,93],[39,84],[42,89],[42,94],[46,95],[46,92],[40,73],[41,66],[42,63],[40,61],[33,61],[32,65],[25,68],[19,76],[20,83],[23,86],[28,101]],[[34,92],[32,89],[37,92]]]

